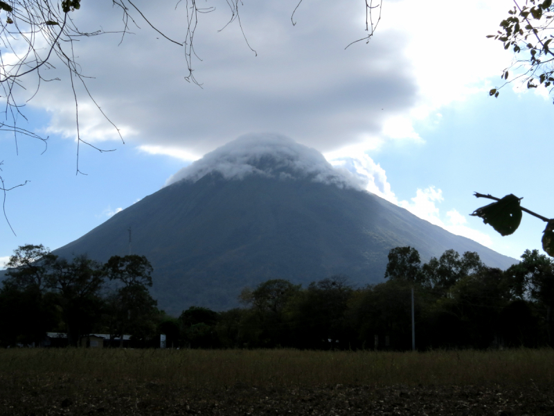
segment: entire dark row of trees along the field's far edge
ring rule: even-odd
[[[240,293],[241,307],[192,306],[179,318],[157,309],[145,257],[60,259],[42,245],[15,250],[0,290],[0,345],[32,343],[46,331],[80,336],[132,334],[136,347],[411,349],[414,292],[418,349],[553,345],[554,261],[526,250],[508,270],[475,252],[445,251],[422,263],[417,250],[393,248],[385,281],[354,287],[335,275],[303,288],[271,279]]]

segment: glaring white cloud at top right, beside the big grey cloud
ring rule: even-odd
[[[508,15],[506,1],[468,0],[464,8],[470,10],[470,26],[467,13],[461,13],[456,2],[430,0],[425,8],[411,0],[385,4],[379,23],[383,31],[375,36],[389,30],[406,36],[399,53],[409,62],[418,94],[409,110],[385,122],[384,135],[418,141],[413,123],[434,124],[434,114],[441,107],[487,94],[491,77],[501,85],[502,70],[513,54],[485,36],[495,33]]]

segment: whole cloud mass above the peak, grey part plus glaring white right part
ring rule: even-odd
[[[192,161],[252,131],[280,132],[322,152],[354,145],[368,151],[387,140],[422,143],[416,122],[434,124],[440,107],[486,94],[488,78],[500,76],[511,56],[485,38],[505,17],[505,1],[467,0],[470,30],[458,3],[429,1],[425,8],[413,0],[386,2],[375,36],[346,50],[366,35],[359,0],[303,2],[296,26],[290,22],[296,3],[248,2],[241,21],[256,57],[237,22],[218,32],[228,9],[209,0],[216,10],[203,15],[195,37],[202,58],[195,76],[203,89],[183,79],[183,48],[158,39],[148,25],[120,45],[118,35],[87,38],[75,44],[75,55],[85,75],[95,77],[87,82],[105,114],[126,141],[150,154]],[[184,38],[186,8],[142,7],[170,37]],[[84,5],[72,19],[88,31],[99,22],[107,31],[120,28],[119,16],[103,3]],[[45,76],[68,81],[62,67]],[[118,140],[76,88],[82,138]],[[47,132],[75,137],[71,88],[46,83],[29,105],[51,112]]]

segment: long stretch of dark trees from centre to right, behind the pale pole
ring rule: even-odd
[[[414,290],[418,349],[553,345],[554,261],[526,250],[508,270],[475,252],[388,254],[383,283],[355,288],[344,276],[303,288],[283,279],[245,288],[241,308],[184,311],[183,340],[197,348],[411,349]]]

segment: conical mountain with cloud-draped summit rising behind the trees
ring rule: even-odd
[[[242,288],[267,279],[377,283],[388,251],[402,245],[424,260],[453,248],[488,266],[515,262],[359,190],[321,153],[284,137],[241,137],[168,182],[55,254],[125,255],[131,227],[132,252],[154,266],[152,295],[170,313],[237,306]]]

